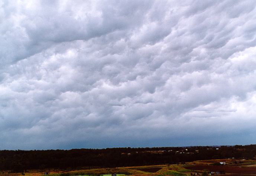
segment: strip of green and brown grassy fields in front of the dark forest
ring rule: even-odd
[[[172,175],[172,176],[190,176],[190,173],[202,173],[203,170],[217,171],[224,170],[226,175],[231,176],[239,174],[242,176],[256,176],[256,160],[243,160],[243,163],[225,166],[212,166],[217,162],[233,163],[235,160],[198,160],[188,162],[185,165],[150,165],[150,166],[133,166],[133,167],[116,167],[116,168],[98,168],[98,169],[81,169],[81,170],[50,170],[49,176],[87,176],[87,175],[104,175],[111,176],[112,173],[120,174],[117,176],[134,175],[134,176],[149,176],[149,175]],[[48,170],[43,171],[48,172]],[[0,176],[5,176],[1,172]],[[7,173],[6,176],[22,176],[22,173]],[[25,176],[42,176],[39,170],[29,170]]]

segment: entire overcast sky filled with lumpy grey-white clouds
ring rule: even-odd
[[[0,1],[0,149],[256,143],[255,0]]]

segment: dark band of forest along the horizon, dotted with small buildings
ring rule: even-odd
[[[256,145],[71,150],[0,150],[0,170],[82,169],[179,164],[208,159],[255,159]]]

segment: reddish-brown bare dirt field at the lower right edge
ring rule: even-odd
[[[256,169],[254,167],[239,167],[239,166],[186,166],[186,169],[191,170],[204,170],[207,169],[209,171],[224,171],[226,173],[233,174],[254,174],[256,175]]]

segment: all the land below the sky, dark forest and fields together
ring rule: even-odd
[[[72,150],[0,150],[0,176],[256,175],[256,145]],[[226,165],[219,166],[221,162]],[[222,173],[221,172],[221,173]]]

